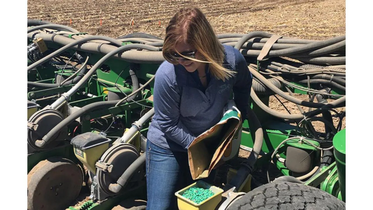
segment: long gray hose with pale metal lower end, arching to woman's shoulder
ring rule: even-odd
[[[153,47],[153,46],[148,46],[145,44],[128,44],[124,45],[121,47],[118,47],[116,50],[113,50],[112,52],[106,54],[104,57],[102,57],[99,61],[95,63],[95,65],[87,72],[87,74],[84,75],[84,77],[79,80],[78,83],[76,83],[68,92],[63,93],[62,96],[57,99],[53,104],[51,104],[51,108],[55,109],[68,101],[68,99],[75,93],[77,92],[84,83],[86,83],[90,77],[96,72],[96,70],[104,64],[109,58],[111,58],[113,55],[116,55],[118,53],[124,52],[126,50],[131,50],[131,49],[145,49],[145,50],[152,50],[152,51],[158,51],[158,47]]]

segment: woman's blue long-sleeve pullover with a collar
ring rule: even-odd
[[[167,61],[160,65],[154,82],[154,116],[147,133],[150,142],[172,151],[186,151],[197,136],[220,121],[232,93],[237,108],[246,116],[253,77],[244,56],[231,46],[223,46],[223,67],[237,73],[222,81],[206,68],[206,89],[197,71],[191,73]]]

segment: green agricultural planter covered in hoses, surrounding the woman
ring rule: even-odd
[[[144,147],[163,40],[28,23],[28,209],[110,210],[146,200]],[[345,209],[345,112],[337,111],[345,106],[345,36],[217,37],[240,50],[253,75],[240,135],[241,151],[250,155],[230,157],[213,183],[198,184],[219,193],[205,204],[181,198],[180,189],[179,208]],[[271,109],[278,96],[301,114],[283,102],[289,114]],[[88,201],[71,206],[83,185]]]

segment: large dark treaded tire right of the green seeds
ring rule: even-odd
[[[320,189],[291,182],[262,185],[227,210],[344,210],[346,205]]]

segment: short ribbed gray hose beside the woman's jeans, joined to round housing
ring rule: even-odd
[[[118,193],[131,179],[131,177],[140,169],[142,165],[144,165],[146,160],[146,153],[144,152],[140,157],[138,157],[119,177],[117,183],[111,183],[109,185],[109,190]]]

